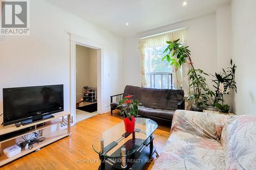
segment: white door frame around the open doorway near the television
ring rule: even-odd
[[[76,45],[94,48],[97,50],[97,111],[103,113],[103,56],[105,45],[72,33],[70,35],[70,112],[76,124]]]

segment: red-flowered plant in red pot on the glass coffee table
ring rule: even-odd
[[[125,131],[132,133],[135,128],[135,117],[138,117],[138,106],[139,102],[132,100],[132,95],[124,96],[123,99],[118,103],[117,107],[121,107],[121,115],[126,116],[123,120]]]

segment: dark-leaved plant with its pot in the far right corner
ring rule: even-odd
[[[237,66],[233,64],[232,60],[230,60],[230,65],[231,66],[228,67],[227,70],[222,68],[222,71],[219,74],[216,72],[215,76],[211,75],[215,78],[212,79],[215,91],[209,90],[209,99],[211,104],[207,106],[208,110],[218,111],[219,109],[222,110],[222,108],[224,107],[227,109],[227,106],[224,106],[225,100],[223,96],[225,94],[229,94],[231,90],[237,91],[237,85],[234,81],[234,74],[236,72]],[[220,104],[220,102],[222,102],[222,105]]]

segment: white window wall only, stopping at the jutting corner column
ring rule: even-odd
[[[211,14],[123,38],[123,86],[140,86],[138,50],[140,37],[183,27],[188,27],[187,45],[189,45],[195,67],[205,72],[215,72],[217,70],[217,26],[216,14]]]

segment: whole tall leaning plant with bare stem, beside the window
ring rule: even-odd
[[[167,60],[170,65],[174,65],[175,69],[180,69],[181,65],[189,62],[189,71],[187,73],[189,77],[189,96],[187,100],[193,100],[194,104],[191,106],[191,110],[202,111],[205,109],[205,104],[208,103],[208,93],[206,79],[204,76],[208,76],[202,69],[196,69],[190,58],[189,46],[183,46],[179,43],[180,39],[175,41],[166,41],[169,45],[164,51],[166,54],[162,60]]]

